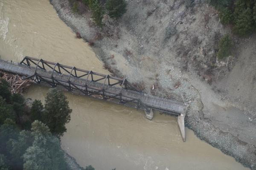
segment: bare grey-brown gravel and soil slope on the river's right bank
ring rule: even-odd
[[[105,68],[148,94],[192,101],[186,126],[256,170],[255,35],[232,37],[233,55],[218,61],[218,40],[230,30],[202,0],[193,7],[183,0],[129,0],[118,21],[105,15],[103,28],[93,25],[88,10],[73,14],[68,0],[50,2]]]

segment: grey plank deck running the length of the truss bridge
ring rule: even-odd
[[[33,77],[35,75],[35,67],[27,66],[18,63],[6,62],[4,60],[0,60],[0,70],[10,72],[12,74],[19,74],[25,77]],[[104,89],[104,92],[101,91],[98,94],[105,96],[117,96],[120,93],[122,94],[122,99],[140,99],[144,105],[148,108],[152,108],[158,111],[180,115],[181,113],[185,114],[186,105],[181,102],[176,102],[169,99],[163,99],[156,96],[151,96],[148,94],[143,94],[137,91],[131,91],[128,89],[119,88],[111,85],[104,85],[103,83],[90,81],[87,79],[82,79],[78,77],[69,77],[67,74],[59,74],[56,72],[47,71],[44,69],[36,69],[36,74],[39,77],[44,77],[46,82],[52,82],[52,77],[54,77],[55,82],[61,83],[63,86],[70,87],[70,82],[72,82],[73,86],[76,86],[80,90],[76,90],[77,93],[82,94],[82,91],[85,91],[87,86],[87,90],[91,92],[96,92],[97,90]],[[35,80],[35,79],[34,79]],[[46,83],[44,83],[47,85]],[[50,84],[49,84],[50,85]],[[64,88],[65,89],[65,88]],[[67,89],[66,89],[67,90]],[[109,99],[111,101],[111,99]],[[111,102],[116,102],[112,100]]]

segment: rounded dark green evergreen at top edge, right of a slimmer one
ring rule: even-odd
[[[106,9],[111,18],[119,18],[126,12],[125,0],[107,0]]]

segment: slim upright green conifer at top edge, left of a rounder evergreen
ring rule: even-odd
[[[103,10],[99,0],[94,0],[92,4],[93,21],[97,26],[102,26]]]

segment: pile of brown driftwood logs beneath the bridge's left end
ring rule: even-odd
[[[33,83],[30,79],[22,79],[19,75],[9,74],[0,71],[0,82],[1,79],[9,82],[12,94],[21,94],[27,87],[29,87]]]

